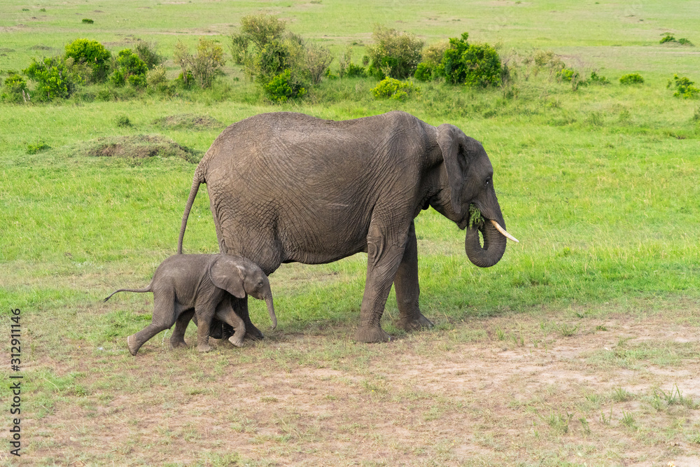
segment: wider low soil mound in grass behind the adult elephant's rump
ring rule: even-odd
[[[137,135],[131,137],[108,137],[90,141],[87,155],[92,157],[152,158],[155,155],[165,158],[181,158],[188,162],[199,161],[197,151],[177,144],[172,139],[160,135]]]

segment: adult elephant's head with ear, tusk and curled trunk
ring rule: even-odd
[[[442,196],[433,207],[467,229],[464,249],[469,260],[479,267],[498,263],[505,252],[506,237],[517,242],[505,231],[505,221],[493,188],[493,167],[484,147],[454,125],[437,127],[437,144],[444,160]],[[447,178],[445,183],[444,178]],[[449,200],[447,199],[449,193]],[[475,204],[486,219],[485,223],[469,226],[470,204]],[[484,246],[479,242],[479,231]]]

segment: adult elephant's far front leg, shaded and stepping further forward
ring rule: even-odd
[[[421,288],[418,284],[418,242],[413,221],[408,230],[403,258],[394,278],[394,290],[399,312],[399,328],[408,331],[433,326],[433,323],[423,316],[418,305]]]

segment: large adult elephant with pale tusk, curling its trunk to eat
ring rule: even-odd
[[[400,328],[433,324],[418,305],[413,220],[421,209],[433,207],[464,229],[473,203],[489,222],[467,229],[468,258],[490,267],[505,251],[482,145],[454,125],[433,127],[405,112],[339,122],[263,113],[226,128],[195,170],[179,253],[200,183],[207,183],[221,252],[248,258],[265,274],[281,263],[330,263],[365,251],[360,342],[389,340],[379,319],[391,284]],[[246,326],[254,329],[249,320]]]

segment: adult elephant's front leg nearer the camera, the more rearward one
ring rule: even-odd
[[[360,327],[355,333],[355,340],[360,342],[389,340],[379,321],[406,244],[405,235],[392,239],[381,236],[377,230],[370,226],[370,235],[367,235],[367,279],[360,308]]]

